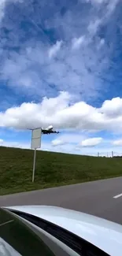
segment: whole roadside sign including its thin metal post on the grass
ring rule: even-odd
[[[36,162],[36,149],[41,147],[42,128],[33,129],[31,132],[31,149],[34,149],[34,161],[32,171],[32,182],[35,181],[35,162]]]

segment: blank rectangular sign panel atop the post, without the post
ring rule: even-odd
[[[41,134],[42,134],[42,129],[37,128],[32,130],[31,133],[31,149],[36,149],[41,147]]]

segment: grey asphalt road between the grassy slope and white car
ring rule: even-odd
[[[0,206],[20,205],[61,206],[122,224],[122,177],[0,196]]]

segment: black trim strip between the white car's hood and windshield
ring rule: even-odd
[[[9,210],[9,209],[8,209]],[[21,212],[20,210],[9,210],[12,213],[23,217],[25,220],[30,221],[37,227],[42,228],[44,231],[54,236],[62,243],[65,243],[72,250],[76,251],[82,256],[109,256],[105,251],[94,246],[92,243],[87,242],[85,239],[67,231],[65,228],[59,227],[57,224],[53,224],[50,221],[46,221],[40,217],[35,217],[29,213]]]

